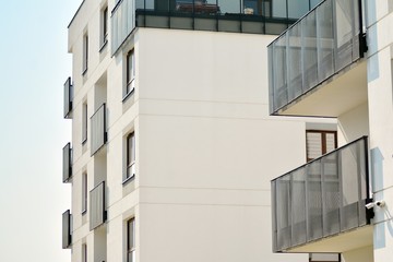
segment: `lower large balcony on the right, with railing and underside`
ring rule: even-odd
[[[272,180],[275,252],[344,252],[372,245],[367,136]]]

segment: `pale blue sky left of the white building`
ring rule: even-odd
[[[82,0],[0,2],[0,261],[70,261],[61,249],[71,206],[61,182],[71,139],[62,85],[71,75],[67,26]]]

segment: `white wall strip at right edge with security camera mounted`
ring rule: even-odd
[[[367,2],[368,28],[368,99],[372,191],[374,200],[384,200],[384,209],[374,209],[373,257],[388,261],[393,254],[393,2]]]

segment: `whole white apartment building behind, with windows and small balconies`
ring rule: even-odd
[[[336,126],[269,115],[266,46],[317,3],[82,2],[64,83],[72,261],[309,260],[272,252],[270,181],[307,159],[307,131]]]

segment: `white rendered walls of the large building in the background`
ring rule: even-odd
[[[306,119],[267,116],[265,47],[275,36],[138,28],[110,57],[110,43],[98,51],[104,3],[85,0],[69,28],[75,90],[72,261],[82,260],[82,243],[88,261],[104,260],[105,233],[105,261],[126,261],[131,217],[140,262],[307,261],[307,254],[271,251],[270,180],[306,160]],[[82,75],[85,32],[90,61]],[[123,103],[131,48],[136,87]],[[81,143],[82,105],[87,103],[90,118],[104,102],[108,143],[91,157],[90,126]],[[123,186],[131,131],[136,177]],[[90,211],[81,214],[84,172],[88,190],[106,179],[108,221],[99,233],[88,229]]]

